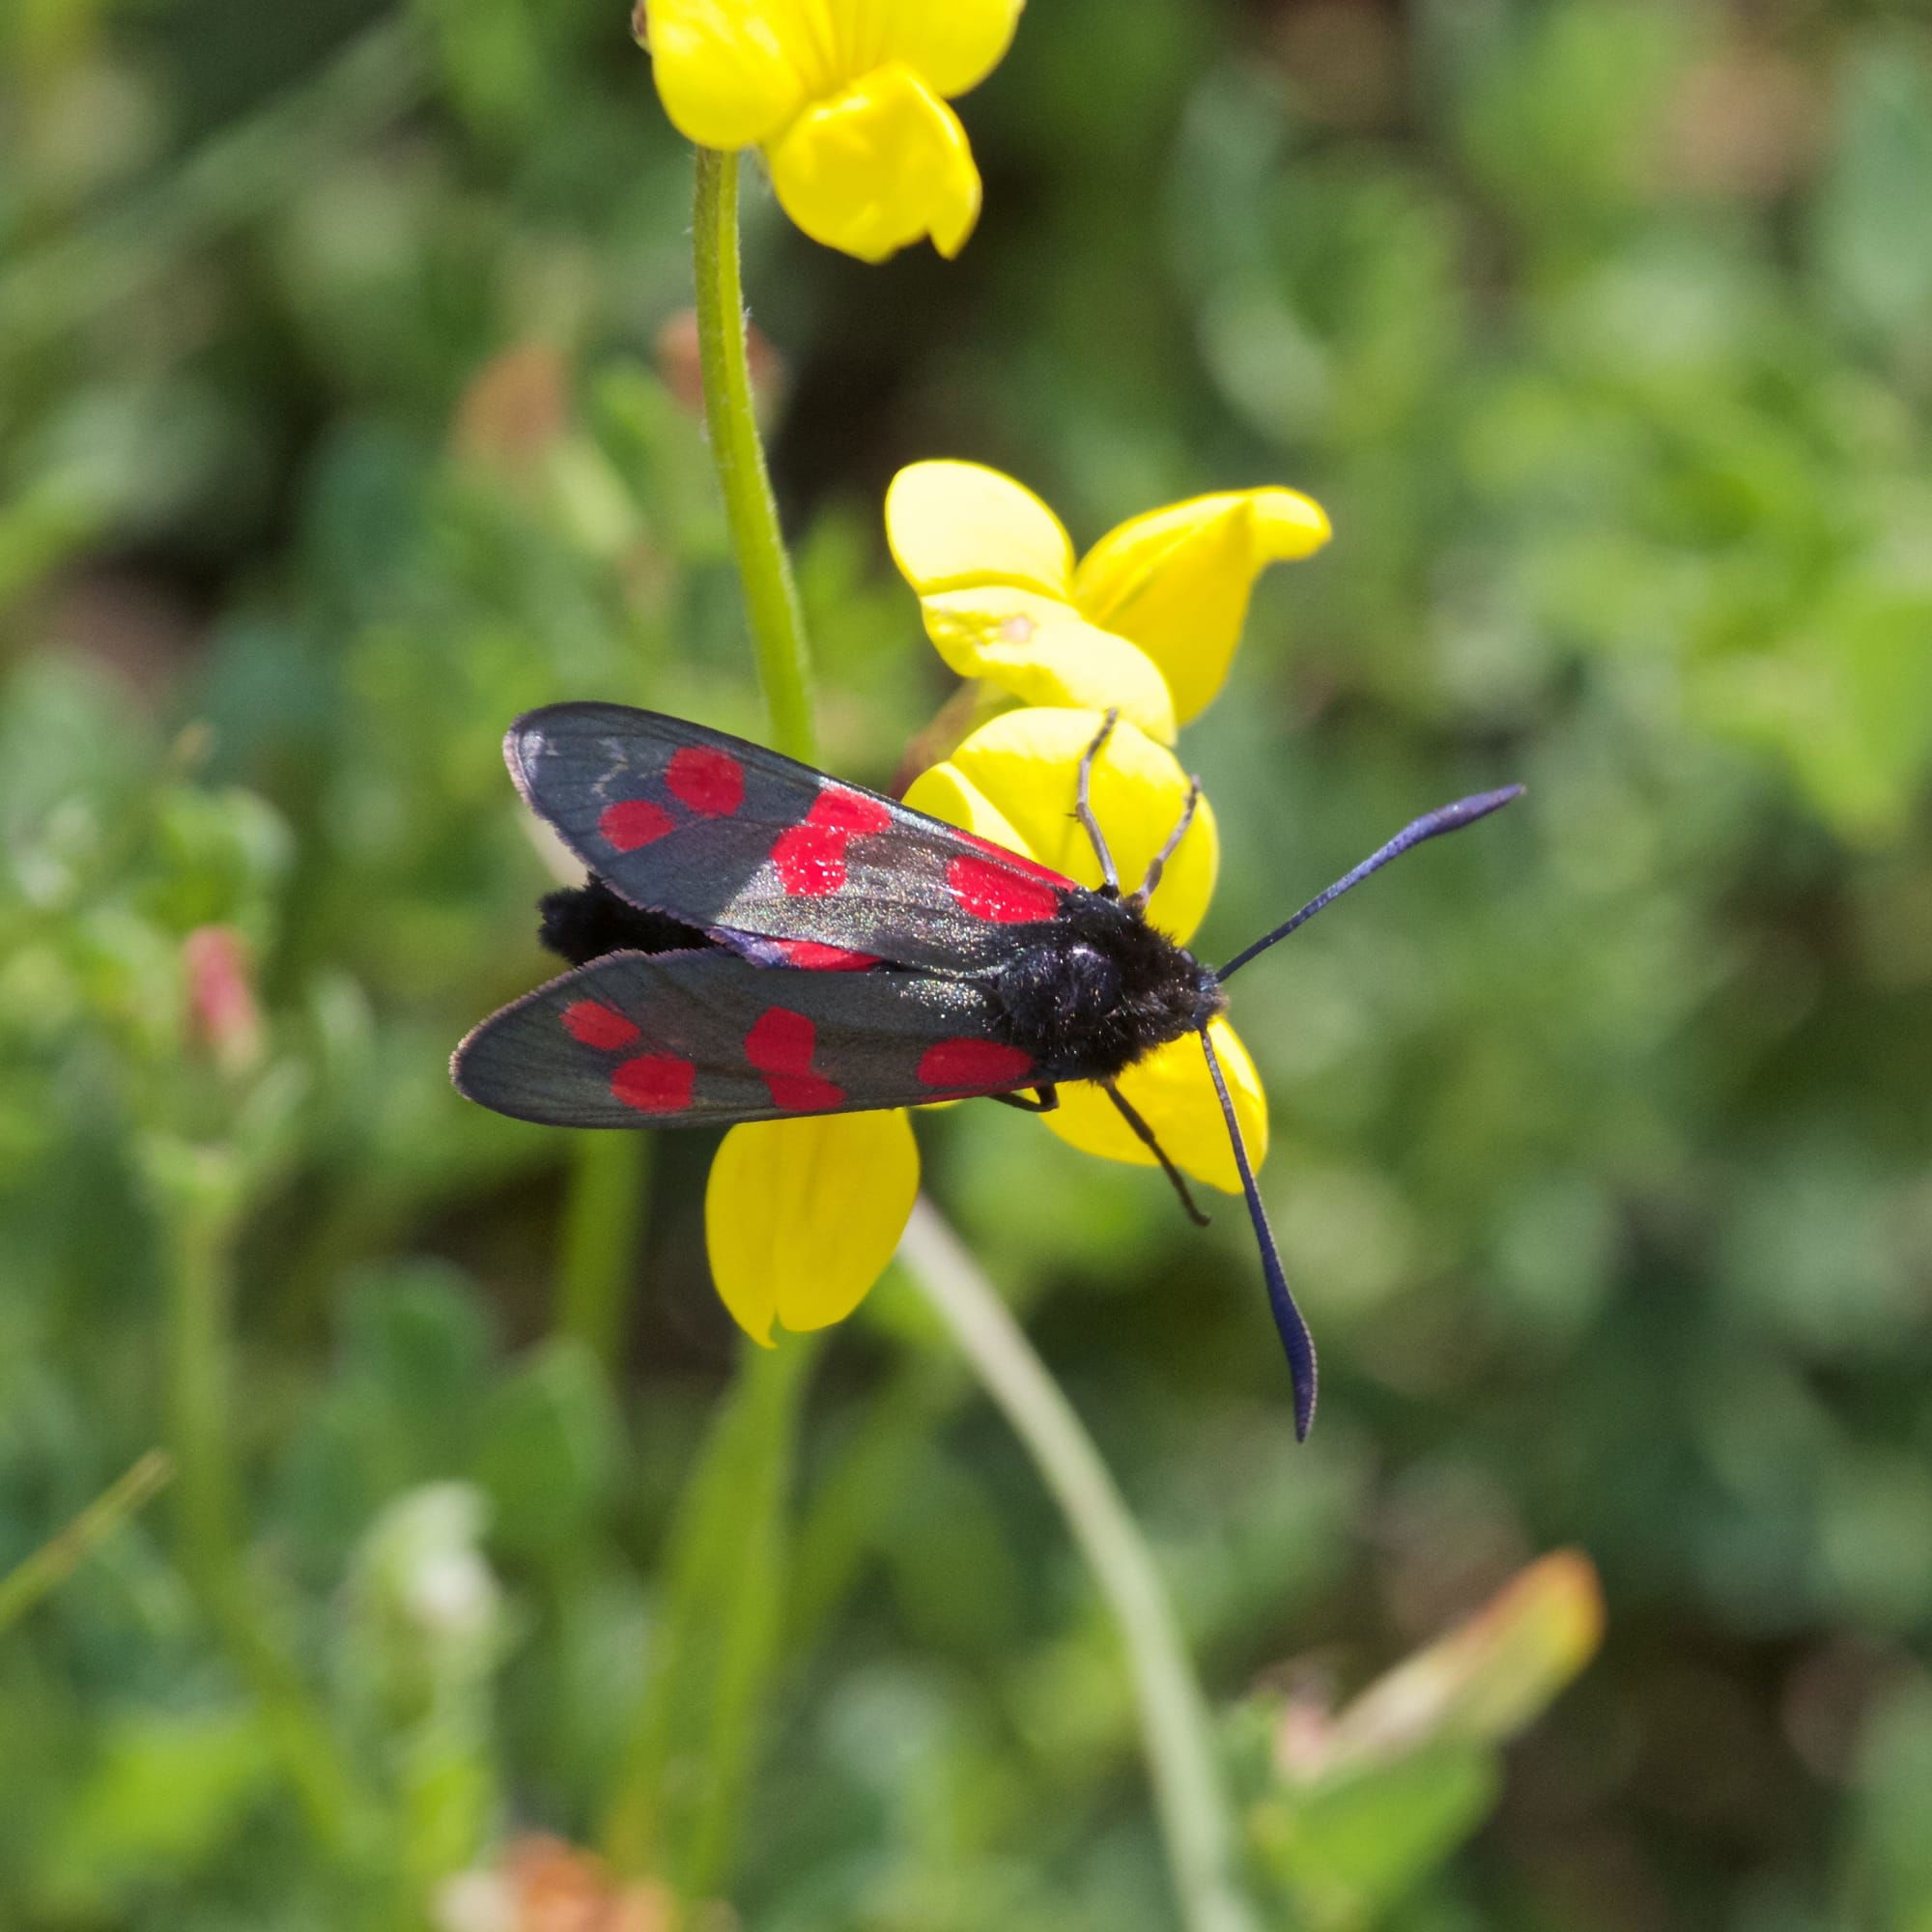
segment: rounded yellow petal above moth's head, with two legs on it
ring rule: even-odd
[[[1009,711],[922,773],[906,804],[1026,852],[1082,885],[1099,885],[1094,842],[1072,815],[1080,755],[1099,723],[1095,711]],[[1092,798],[1121,885],[1132,891],[1180,823],[1188,775],[1173,752],[1121,719],[1094,759]],[[1204,798],[1161,873],[1148,918],[1186,945],[1208,910],[1219,862],[1221,838]]]

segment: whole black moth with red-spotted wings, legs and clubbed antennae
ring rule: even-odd
[[[1088,804],[1072,800],[1099,891],[893,798],[724,732],[624,705],[549,705],[504,757],[529,808],[589,869],[543,902],[572,962],[456,1049],[473,1101],[553,1126],[701,1126],[985,1095],[1045,1111],[1094,1080],[1186,1182],[1115,1086],[1153,1047],[1198,1034],[1227,1119],[1275,1325],[1308,1434],[1316,1352],[1289,1294],[1208,1022],[1225,983],[1399,852],[1520,792],[1457,800],[1397,833],[1219,970],[1146,920],[1194,792],[1122,893]],[[1032,1097],[1024,1097],[1024,1095]]]

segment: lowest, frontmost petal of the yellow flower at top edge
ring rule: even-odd
[[[898,62],[813,100],[767,156],[784,213],[813,242],[860,261],[885,261],[923,234],[956,255],[980,218],[966,129]]]

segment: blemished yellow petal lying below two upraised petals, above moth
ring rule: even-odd
[[[985,678],[1030,705],[1078,705],[1121,715],[1171,744],[1175,705],[1153,661],[1072,605],[1005,583],[920,599],[925,636],[962,678]]]

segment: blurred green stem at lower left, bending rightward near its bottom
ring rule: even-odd
[[[220,1200],[226,1188],[214,1173],[216,1161],[213,1153],[170,1150],[168,1167],[178,1184],[160,1190],[168,1271],[168,1451],[178,1476],[182,1569],[263,1714],[309,1830],[346,1872],[355,1874],[369,1868],[379,1812],[299,1671],[267,1629],[236,1528],[236,1455],[228,1426],[232,1215]]]

